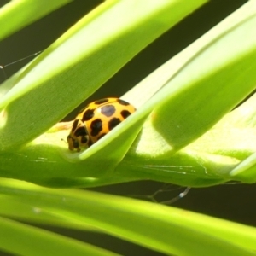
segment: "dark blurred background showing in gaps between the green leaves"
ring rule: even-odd
[[[2,0],[0,3],[3,5],[8,2]],[[150,44],[136,58],[125,65],[108,83],[104,84],[101,90],[90,96],[86,102],[102,97],[122,96],[125,91],[154,71],[156,67],[159,67],[173,55],[176,55],[180,50],[191,44],[196,38],[199,38],[211,29],[212,26],[246,2],[244,0],[210,1],[194,14],[189,15],[185,20],[177,24],[172,30],[158,38],[153,44]],[[26,58],[23,61],[19,61],[20,59],[46,49],[70,26],[73,26],[82,16],[100,3],[102,1],[75,0],[0,42],[0,66],[3,66],[6,76],[10,77],[31,60],[31,58]],[[86,47],[85,42],[84,47]],[[16,62],[9,65],[9,63],[14,61]],[[0,70],[0,81],[3,81],[3,79],[5,79],[4,74]],[[70,113],[66,120],[73,119],[79,108]],[[162,186],[163,183],[145,181],[117,184],[94,190],[124,196],[138,195],[137,197],[143,199],[143,195],[152,195],[155,191],[161,189]],[[157,200],[166,201],[172,199],[180,192],[183,192],[184,189],[179,188],[162,193],[158,196]],[[229,219],[241,224],[256,226],[255,191],[256,184],[238,183],[223,184],[205,189],[190,189],[189,194],[175,202],[173,206],[218,218]],[[112,236],[91,234],[78,230],[44,228],[65,236],[88,241],[123,255],[162,255],[161,253],[153,253],[143,247],[113,238]],[[0,255],[8,254],[0,252]]]

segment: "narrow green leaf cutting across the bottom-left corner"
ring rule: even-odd
[[[81,241],[0,217],[0,248],[17,255],[117,255]]]

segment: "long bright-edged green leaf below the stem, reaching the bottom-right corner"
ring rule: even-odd
[[[175,207],[82,190],[43,189],[8,180],[3,181],[0,193],[15,195],[17,201],[55,212],[71,223],[82,227],[89,223],[168,255],[253,255],[256,249],[254,228]]]

